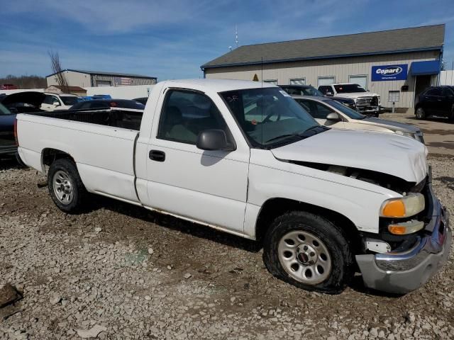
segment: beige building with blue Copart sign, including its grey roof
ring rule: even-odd
[[[306,84],[352,82],[382,106],[411,108],[415,94],[439,81],[445,26],[338,35],[238,47],[201,66],[204,77]]]

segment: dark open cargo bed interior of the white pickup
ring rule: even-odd
[[[35,112],[27,114],[138,131],[140,130],[143,111],[131,108],[101,108],[91,110]]]

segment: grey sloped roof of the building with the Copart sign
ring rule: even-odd
[[[441,50],[444,39],[445,25],[442,24],[245,45],[201,65],[201,69],[261,64],[262,62],[269,64],[333,57]]]

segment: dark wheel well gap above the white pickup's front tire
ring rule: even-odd
[[[355,224],[348,219],[348,217],[345,217],[339,212],[321,208],[317,205],[299,202],[297,200],[289,200],[287,198],[272,198],[267,200],[265,204],[262,205],[262,209],[260,210],[257,224],[255,226],[255,237],[258,242],[262,244],[267,229],[276,217],[283,215],[285,212],[294,210],[311,212],[325,217],[327,220],[343,229],[345,237],[347,237],[353,247],[352,251],[360,249],[360,233],[355,227]]]

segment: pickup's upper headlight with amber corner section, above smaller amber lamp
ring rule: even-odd
[[[402,198],[385,200],[380,208],[382,217],[410,217],[426,208],[424,196],[421,193],[409,193]]]

